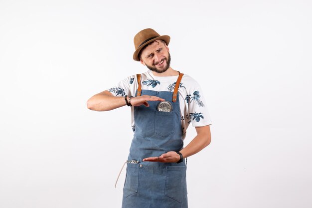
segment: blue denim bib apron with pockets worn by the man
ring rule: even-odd
[[[127,163],[122,208],[187,208],[185,161],[179,164],[142,161],[183,148],[178,96],[172,102],[173,92],[141,92],[169,101],[173,109],[157,111],[159,101],[150,101],[150,107],[135,107],[136,127],[128,161],[139,163]]]

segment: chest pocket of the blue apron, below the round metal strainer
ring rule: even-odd
[[[155,133],[166,137],[174,132],[173,111],[155,111]]]

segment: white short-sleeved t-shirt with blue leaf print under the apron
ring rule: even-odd
[[[141,74],[142,90],[170,91],[173,92],[177,76],[155,76],[151,70]],[[115,96],[135,96],[138,89],[137,75],[128,76],[109,91]],[[186,129],[190,123],[193,127],[206,126],[211,124],[207,104],[199,84],[187,74],[182,76],[178,88],[179,104],[181,111],[181,125],[183,139],[186,136]],[[135,131],[134,107],[131,107],[131,126]]]

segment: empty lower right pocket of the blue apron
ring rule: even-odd
[[[167,166],[165,195],[178,203],[186,199],[186,166]]]

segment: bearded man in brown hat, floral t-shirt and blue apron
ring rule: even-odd
[[[170,66],[168,35],[141,30],[133,59],[149,70],[92,96],[88,108],[132,110],[134,137],[122,208],[187,208],[185,158],[210,144],[210,116],[198,83]],[[197,136],[183,148],[188,125]]]

